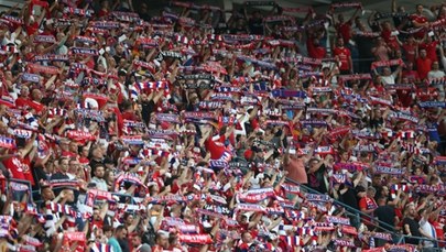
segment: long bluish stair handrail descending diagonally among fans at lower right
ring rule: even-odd
[[[307,186],[305,186],[305,185],[302,185],[302,184],[300,184],[300,183],[297,183],[297,182],[295,182],[295,180],[293,180],[293,179],[291,179],[291,178],[286,178],[286,182],[292,183],[292,184],[294,184],[294,185],[298,185],[301,189],[304,189],[304,190],[309,191],[309,193],[312,193],[312,194],[323,195],[323,194],[320,194],[319,191],[317,191],[317,190],[315,190],[315,189],[312,189],[312,188],[309,188],[309,187],[307,187]],[[333,198],[333,197],[330,197],[330,198],[333,199],[333,201],[334,201],[336,205],[339,205],[339,206],[344,207],[347,211],[349,211],[350,215],[362,216],[362,217],[360,217],[361,219],[363,219],[363,218],[369,218],[369,219],[372,219],[373,221],[376,221],[376,222],[382,224],[382,226],[377,226],[376,223],[372,223],[372,226],[374,226],[374,227],[377,227],[377,228],[380,228],[380,229],[384,230],[385,232],[391,233],[392,237],[399,237],[400,239],[399,239],[396,242],[393,242],[393,243],[395,243],[395,244],[404,244],[406,238],[410,238],[410,239],[417,239],[417,240],[423,240],[423,241],[431,241],[431,242],[433,242],[434,244],[437,244],[437,243],[438,243],[438,240],[433,240],[433,239],[423,238],[423,237],[406,235],[406,234],[398,233],[398,232],[395,232],[395,231],[391,231],[391,230],[394,230],[394,227],[392,227],[392,226],[390,226],[390,224],[388,224],[388,223],[385,223],[385,222],[382,222],[381,220],[376,219],[376,218],[371,217],[370,215],[367,215],[367,213],[365,213],[365,212],[362,212],[362,211],[359,211],[358,209],[355,209],[355,208],[352,208],[352,207],[350,207],[350,206],[348,206],[348,205],[346,205],[346,204],[344,204],[344,202],[341,202],[341,201],[339,201],[339,200],[337,200],[337,199],[335,199],[335,198]],[[385,228],[384,228],[384,227],[385,227]],[[389,227],[391,228],[390,230],[388,229]],[[434,248],[434,249],[435,249],[435,248]]]

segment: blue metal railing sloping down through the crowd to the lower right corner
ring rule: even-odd
[[[305,185],[302,185],[291,178],[286,178],[286,182],[294,184],[294,185],[298,185],[301,188],[301,191],[303,191],[303,193],[324,195],[324,194],[320,194],[319,191],[312,189]],[[418,240],[418,241],[429,241],[429,242],[433,242],[436,246],[438,246],[438,240],[427,239],[427,238],[423,238],[423,237],[406,235],[406,234],[395,232],[395,231],[393,231],[394,230],[393,226],[390,226],[370,215],[367,215],[358,209],[355,209],[333,197],[331,197],[331,200],[333,200],[334,205],[344,207],[344,209],[347,210],[347,212],[346,212],[347,216],[356,217],[359,220],[357,223],[361,223],[361,221],[363,221],[363,220],[372,220],[372,221],[368,221],[369,223],[371,222],[370,226],[373,226],[374,228],[383,230],[384,232],[391,233],[394,244],[405,244],[406,239],[414,239],[414,240]],[[356,228],[358,228],[358,227],[356,227]],[[442,251],[442,248],[428,248],[428,249],[429,249],[429,251],[433,251],[433,252]]]

